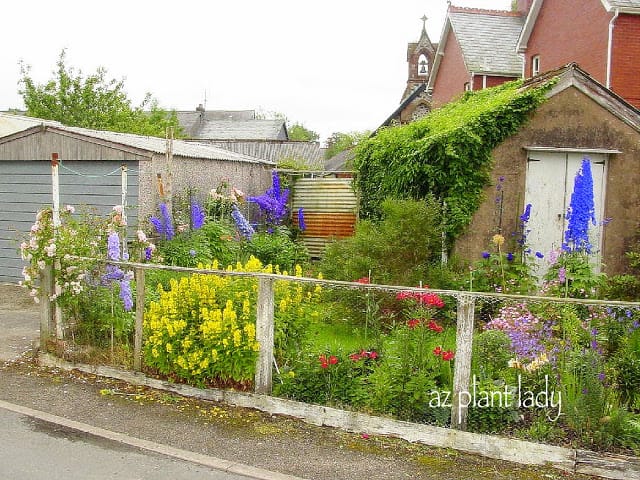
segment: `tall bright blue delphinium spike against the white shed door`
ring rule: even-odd
[[[596,224],[596,216],[591,161],[588,158],[582,160],[582,166],[576,173],[571,203],[567,209],[567,220],[568,225],[562,248],[569,252],[591,253],[589,224]]]

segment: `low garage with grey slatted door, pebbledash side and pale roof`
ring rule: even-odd
[[[181,140],[33,119],[23,124],[24,129],[0,137],[0,282],[19,280],[23,262],[18,238],[29,232],[36,212],[52,203],[53,153],[60,160],[61,204],[100,213],[122,203],[121,167],[126,165],[129,225],[146,230],[163,192],[192,190],[204,196],[225,182],[259,194],[269,187],[275,167],[267,160]]]

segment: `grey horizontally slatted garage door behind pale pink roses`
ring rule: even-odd
[[[128,167],[127,205],[138,204],[138,162]],[[65,161],[59,168],[60,204],[95,208],[106,214],[122,203],[121,162]],[[38,210],[52,205],[51,164],[45,161],[0,161],[0,282],[17,283],[24,262],[19,245]],[[127,212],[137,224],[137,209]]]

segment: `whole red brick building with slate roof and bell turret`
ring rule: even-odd
[[[407,123],[465,90],[577,63],[640,107],[640,0],[517,0],[511,11],[449,5],[440,41],[408,44],[402,100],[382,126]]]

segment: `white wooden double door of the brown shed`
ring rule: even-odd
[[[591,160],[596,225],[590,226],[589,237],[593,245],[594,265],[599,268],[606,154],[529,152],[525,205],[531,204],[531,216],[527,224],[527,244],[533,253],[541,252],[545,258],[548,258],[551,251],[561,248],[567,229],[567,208],[571,203],[575,176],[583,158]],[[543,275],[547,269],[546,261],[539,262],[539,275]]]

